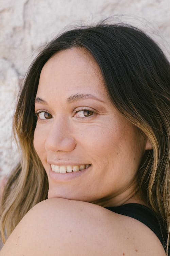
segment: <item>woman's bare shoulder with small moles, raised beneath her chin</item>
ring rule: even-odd
[[[166,254],[155,234],[133,218],[95,204],[53,198],[38,203],[15,228],[0,252],[11,255]]]

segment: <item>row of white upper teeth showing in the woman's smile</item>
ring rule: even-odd
[[[52,171],[54,172],[57,172],[57,173],[66,173],[66,172],[78,172],[80,170],[84,170],[85,168],[88,168],[90,165],[74,165],[74,166],[71,166],[71,165],[67,165],[67,166],[64,166],[64,165],[51,165],[51,169]]]

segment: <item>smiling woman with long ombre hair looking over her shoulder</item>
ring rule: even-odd
[[[1,256],[168,255],[169,71],[128,25],[46,46],[14,117],[21,161],[3,193]]]

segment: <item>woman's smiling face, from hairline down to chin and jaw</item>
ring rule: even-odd
[[[48,175],[48,198],[107,206],[133,196],[146,138],[110,102],[86,49],[67,49],[47,61],[35,112],[34,147]]]

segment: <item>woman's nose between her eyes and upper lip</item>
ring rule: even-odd
[[[52,152],[70,152],[76,146],[71,129],[66,119],[54,120],[51,123],[45,141],[45,150]]]

